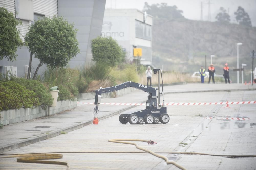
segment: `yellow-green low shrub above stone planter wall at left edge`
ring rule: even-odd
[[[0,110],[39,106],[37,94],[15,81],[0,83]]]

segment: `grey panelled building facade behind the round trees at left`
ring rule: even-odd
[[[4,6],[10,12],[18,12],[17,19],[23,25],[18,25],[21,38],[28,31],[29,25],[38,17],[63,16],[69,23],[74,24],[74,28],[79,31],[77,40],[79,42],[80,53],[69,61],[69,67],[75,68],[88,65],[91,62],[92,54],[90,41],[101,35],[101,28],[105,10],[106,0],[0,0],[0,6]],[[30,53],[26,46],[17,49],[16,61],[10,62],[7,59],[0,60],[0,73],[4,74],[12,66],[13,74],[23,77],[27,73]],[[31,76],[39,64],[39,60],[32,59]],[[38,74],[42,75],[46,69],[43,65]]]

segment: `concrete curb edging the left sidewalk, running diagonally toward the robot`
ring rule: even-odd
[[[143,101],[143,102],[146,102],[146,101]],[[134,107],[136,107],[136,105],[120,109],[118,111],[115,111],[115,112],[112,112],[108,115],[100,117],[99,120],[103,120],[103,119],[112,117],[114,115],[117,115],[117,114],[119,114],[123,111],[129,110],[129,109],[134,108]],[[25,140],[22,140],[20,142],[7,144],[7,145],[4,145],[3,147],[0,148],[0,153],[4,153],[4,152],[11,151],[11,150],[14,150],[14,149],[17,149],[17,148],[21,148],[23,146],[27,146],[27,145],[30,145],[30,144],[33,144],[33,143],[36,143],[36,142],[40,142],[40,141],[43,141],[43,140],[46,140],[46,139],[50,139],[50,138],[53,138],[55,136],[60,135],[61,132],[71,132],[73,130],[80,129],[80,128],[82,128],[84,126],[87,126],[89,124],[92,124],[92,120],[88,121],[88,122],[76,124],[76,125],[73,125],[73,126],[69,126],[67,128],[63,128],[63,129],[60,129],[60,130],[57,130],[57,131],[54,131],[54,132],[50,132],[49,134],[46,134],[46,135],[43,135],[43,136],[40,136],[40,137],[25,139]]]

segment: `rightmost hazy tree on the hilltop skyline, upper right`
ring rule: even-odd
[[[252,26],[250,16],[241,6],[237,8],[237,11],[234,12],[234,14],[236,15],[236,20],[240,25]]]

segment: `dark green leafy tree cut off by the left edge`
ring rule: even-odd
[[[16,26],[21,24],[12,12],[0,7],[0,60],[4,57],[9,61],[15,61],[17,48],[22,46],[20,32]]]

